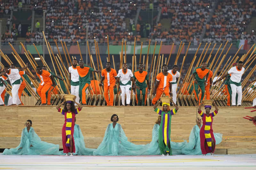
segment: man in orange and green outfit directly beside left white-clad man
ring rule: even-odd
[[[98,73],[99,71],[94,70],[92,67],[85,66],[84,61],[79,61],[79,66],[76,67],[79,74],[79,97],[82,100],[82,105],[86,106],[86,89],[91,83],[91,72]]]

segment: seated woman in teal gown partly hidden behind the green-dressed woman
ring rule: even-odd
[[[143,153],[143,155],[161,155],[159,145],[158,145],[158,131],[161,124],[161,115],[159,115],[156,119],[156,124],[152,130],[152,141],[149,143],[148,150]],[[172,147],[172,154],[178,155],[181,154],[181,149],[186,145],[186,141],[184,142],[170,142]]]

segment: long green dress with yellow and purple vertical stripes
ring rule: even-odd
[[[177,113],[176,109],[169,110],[167,113],[164,111],[156,108],[155,112],[161,115],[161,124],[159,127],[158,132],[158,145],[161,154],[169,153],[172,155],[172,148],[171,148],[171,120],[172,115]]]

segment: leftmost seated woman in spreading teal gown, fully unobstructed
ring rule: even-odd
[[[20,145],[16,148],[4,149],[3,155],[62,155],[59,145],[41,141],[32,126],[32,121],[27,120],[26,127],[22,130]]]

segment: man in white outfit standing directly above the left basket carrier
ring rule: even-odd
[[[72,66],[68,67],[69,78],[70,78],[70,92],[71,95],[76,96],[76,103],[79,103],[79,74],[76,69],[77,60],[72,61]]]

